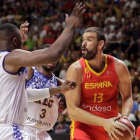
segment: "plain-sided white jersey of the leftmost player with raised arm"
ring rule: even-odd
[[[27,118],[27,93],[25,90],[25,68],[17,73],[4,69],[8,52],[0,52],[0,123],[23,125]]]

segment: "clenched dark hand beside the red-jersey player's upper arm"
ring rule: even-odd
[[[72,80],[65,80],[65,82],[60,86],[61,87],[61,92],[65,93],[69,90],[75,89],[76,87],[76,82]]]

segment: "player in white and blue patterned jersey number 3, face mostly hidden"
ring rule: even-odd
[[[43,48],[50,45],[44,45]],[[27,88],[44,89],[50,87],[57,87],[61,83],[57,77],[52,73],[55,63],[36,68],[28,68],[28,82]],[[32,132],[30,137],[38,140],[51,140],[51,137],[46,132],[50,130],[58,118],[58,103],[61,94],[28,103],[28,117],[25,122],[27,131]]]

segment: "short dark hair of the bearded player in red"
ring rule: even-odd
[[[85,32],[94,32],[97,34],[98,41],[103,40],[106,43],[105,32],[99,27],[90,27],[85,30]],[[105,44],[104,44],[105,46]],[[103,48],[104,48],[103,46]]]

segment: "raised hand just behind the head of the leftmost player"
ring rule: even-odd
[[[25,40],[26,40],[28,26],[29,26],[28,21],[25,21],[25,23],[21,24],[21,26],[20,26],[20,34],[21,34],[21,38],[22,38],[22,43],[25,42]]]

